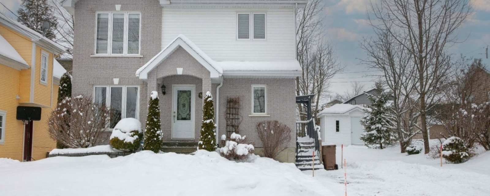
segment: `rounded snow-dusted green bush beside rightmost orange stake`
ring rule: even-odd
[[[469,149],[459,137],[450,137],[442,143],[442,157],[450,163],[463,163],[470,158]]]

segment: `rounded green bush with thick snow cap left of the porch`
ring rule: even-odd
[[[112,130],[110,137],[111,147],[125,151],[135,152],[143,140],[141,123],[134,118],[121,119]]]

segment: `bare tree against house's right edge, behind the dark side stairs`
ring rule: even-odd
[[[296,10],[296,58],[302,68],[302,75],[296,78],[296,95],[316,94],[314,117],[330,87],[330,79],[342,70],[332,46],[324,38],[323,8],[321,0],[309,0],[304,9]],[[298,105],[301,120],[306,120],[303,110]]]

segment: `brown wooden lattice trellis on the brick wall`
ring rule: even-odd
[[[226,99],[226,138],[230,138],[230,135],[235,132],[240,133],[240,123],[242,123],[242,116],[240,115],[240,98],[228,97]]]

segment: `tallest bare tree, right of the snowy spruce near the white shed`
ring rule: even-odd
[[[446,49],[457,42],[456,30],[470,13],[468,0],[380,0],[371,10],[373,27],[386,31],[411,55],[420,128],[429,153],[427,111],[441,98],[451,68]]]

